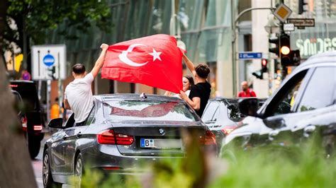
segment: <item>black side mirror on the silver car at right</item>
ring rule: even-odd
[[[259,100],[257,98],[242,98],[238,103],[239,110],[246,116],[257,116]]]

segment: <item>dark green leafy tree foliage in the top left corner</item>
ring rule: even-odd
[[[1,53],[4,48],[11,47],[11,42],[15,42],[23,51],[23,64],[27,65],[28,71],[31,71],[30,63],[27,64],[30,61],[30,44],[43,44],[48,30],[64,24],[65,29],[58,34],[73,40],[77,36],[67,32],[72,27],[82,33],[93,25],[106,32],[111,28],[111,8],[107,0],[7,0],[4,3],[8,10],[2,17],[6,20],[5,25],[0,25],[0,30],[4,30],[2,35],[0,33]],[[16,23],[17,28],[11,28],[11,23]]]

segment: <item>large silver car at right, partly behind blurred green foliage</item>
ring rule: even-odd
[[[257,99],[239,105],[250,116],[226,136],[225,146],[288,146],[315,132],[328,140],[323,145],[330,154],[336,135],[336,51],[315,55],[296,67],[259,110]]]

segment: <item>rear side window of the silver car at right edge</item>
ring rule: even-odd
[[[298,112],[315,110],[332,105],[335,93],[336,68],[325,66],[317,68],[303,93]]]

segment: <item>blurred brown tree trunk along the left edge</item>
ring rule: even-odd
[[[4,25],[1,19],[6,13],[4,3],[0,1],[0,26]],[[0,29],[0,36],[3,34],[4,30]],[[0,187],[37,187],[6,75],[4,57],[0,53],[0,109],[6,109],[6,113],[0,113]]]

